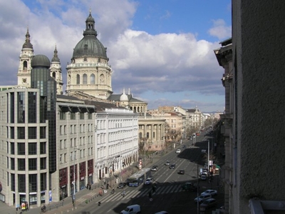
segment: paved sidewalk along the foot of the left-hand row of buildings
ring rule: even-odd
[[[147,163],[147,167],[150,167],[154,163],[156,163],[162,156],[156,155],[152,156],[152,162]],[[130,175],[132,175],[134,172],[133,165],[129,165],[127,168],[125,168],[125,173],[122,175],[122,179],[125,180]],[[111,183],[115,183],[115,178],[111,180]],[[110,189],[108,190],[108,193],[110,193]],[[53,214],[66,214],[66,213],[72,213],[74,210],[82,210],[88,203],[91,203],[95,201],[95,203],[98,203],[101,197],[99,196],[100,190],[100,183],[95,183],[91,186],[91,190],[87,190],[86,188],[83,190],[78,191],[76,193],[76,203],[73,207],[72,198],[68,197],[64,200],[61,200],[60,202],[52,202],[46,205],[47,211],[46,213],[53,213]],[[107,194],[108,194],[107,193]],[[1,214],[19,214],[20,211],[16,211],[16,208],[14,206],[6,205],[5,203],[0,202],[0,213]],[[23,211],[23,214],[39,214],[41,213],[41,208],[38,208],[36,206],[31,205],[29,210]]]

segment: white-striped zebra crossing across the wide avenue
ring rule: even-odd
[[[125,197],[121,195],[121,191],[117,190],[115,191],[115,194],[112,195],[110,192],[106,193],[103,195],[103,197],[100,199],[101,203],[105,202],[113,202],[117,200],[122,200],[122,199],[133,199],[133,198],[140,198],[140,197],[148,197],[148,193],[152,190],[151,185],[150,188],[128,188],[125,190]],[[167,193],[178,193],[182,192],[181,185],[161,185],[158,186],[155,193],[152,193],[152,195],[162,195],[162,194],[167,194]]]

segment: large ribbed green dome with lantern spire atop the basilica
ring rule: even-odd
[[[98,57],[107,58],[107,51],[102,43],[97,39],[95,31],[95,21],[89,14],[86,19],[86,30],[83,32],[83,39],[76,44],[73,50],[73,58]]]

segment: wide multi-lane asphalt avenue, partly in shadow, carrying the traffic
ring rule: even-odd
[[[98,203],[89,203],[84,206],[85,212],[80,213],[120,213],[128,205],[139,204],[142,213],[156,213],[162,210],[168,213],[197,213],[197,203],[194,199],[197,197],[197,192],[190,192],[182,190],[181,186],[185,182],[197,183],[197,169],[202,168],[204,165],[202,149],[207,149],[207,139],[209,136],[197,136],[197,143],[192,146],[192,141],[185,141],[182,145],[178,146],[181,153],[175,153],[176,149],[162,156],[159,161],[154,163],[158,165],[157,172],[152,172],[152,176],[157,183],[157,190],[152,193],[152,201],[148,197],[148,193],[152,189],[151,185],[140,185],[139,187],[125,187],[126,195],[120,195],[122,189],[117,189],[115,194],[108,193],[100,200],[101,205]],[[182,148],[185,145],[187,148]],[[165,165],[166,161],[170,164],[175,163],[175,169],[170,169],[169,165]],[[179,175],[177,172],[183,169],[184,175]],[[224,196],[219,193],[218,175],[214,176],[212,183],[207,180],[199,180],[199,193],[207,189],[218,190],[218,195],[215,196],[217,200],[217,208],[223,205]],[[207,210],[206,213],[211,213]],[[202,214],[202,212],[200,213]]]

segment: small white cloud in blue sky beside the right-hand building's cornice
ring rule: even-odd
[[[227,26],[223,19],[212,20],[213,27],[208,33],[211,36],[216,36],[219,40],[232,37],[232,26]]]

